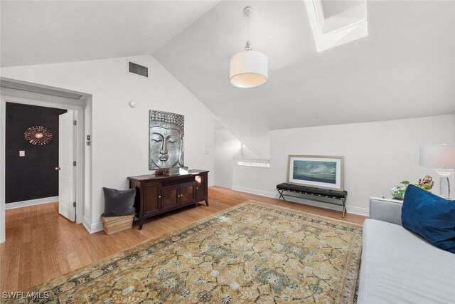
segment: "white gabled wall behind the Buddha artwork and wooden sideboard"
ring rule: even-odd
[[[128,73],[129,60],[148,66],[149,78]],[[214,115],[152,56],[2,68],[1,76],[92,95],[92,230],[102,228],[102,187],[127,189],[127,177],[151,173],[149,110],[185,115],[185,165],[210,170],[213,184]]]

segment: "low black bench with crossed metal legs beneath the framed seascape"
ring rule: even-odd
[[[299,186],[296,184],[277,184],[277,191],[279,193],[279,199],[284,199],[284,196],[297,197],[299,199],[311,199],[314,201],[322,201],[323,203],[334,204],[338,206],[343,206],[343,214],[341,215],[344,218],[346,214],[346,196],[348,196],[347,191],[336,191],[329,189],[313,188]],[[301,194],[296,196],[294,194],[285,194],[284,192],[293,192],[296,194]]]

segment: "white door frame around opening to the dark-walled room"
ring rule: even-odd
[[[6,79],[6,78],[3,78]],[[23,83],[18,81],[18,83]],[[34,84],[33,84],[34,85]],[[50,88],[44,85],[36,85],[40,88]],[[77,162],[76,165],[76,224],[81,224],[84,222],[84,210],[85,210],[85,198],[90,197],[85,195],[85,182],[90,181],[91,167],[88,167],[88,172],[85,172],[85,132],[90,134],[91,130],[85,130],[85,108],[87,107],[87,102],[91,101],[91,95],[81,93],[82,98],[80,100],[70,100],[70,98],[56,97],[53,95],[45,95],[41,93],[31,93],[26,92],[21,94],[18,93],[18,90],[11,90],[6,88],[1,88],[0,96],[0,243],[3,243],[6,240],[6,218],[5,218],[5,162],[6,162],[6,103],[21,103],[24,105],[36,105],[41,107],[48,108],[59,108],[66,110],[75,111],[75,120],[77,121],[76,126],[76,147],[75,155]],[[55,88],[54,88],[55,89]],[[58,89],[61,90],[61,89]],[[61,90],[64,92],[74,92],[69,90]],[[18,97],[17,95],[26,95],[27,97]],[[79,104],[77,104],[79,103]],[[89,117],[90,119],[90,117]],[[91,126],[89,122],[88,126]],[[90,154],[88,155],[90,157]],[[90,157],[91,158],[91,157]],[[90,166],[90,159],[87,160]],[[90,201],[87,201],[87,204],[90,204]],[[90,232],[90,231],[89,231]]]

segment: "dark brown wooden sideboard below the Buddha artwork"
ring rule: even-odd
[[[189,170],[173,176],[139,175],[128,177],[129,188],[136,189],[134,208],[139,218],[139,230],[144,219],[191,204],[205,201],[208,206],[208,171]]]

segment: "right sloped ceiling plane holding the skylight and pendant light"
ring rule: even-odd
[[[269,81],[241,89],[229,61],[247,5]],[[259,157],[269,130],[453,113],[455,2],[367,1],[367,13],[368,37],[317,53],[302,1],[222,1],[154,56]]]

